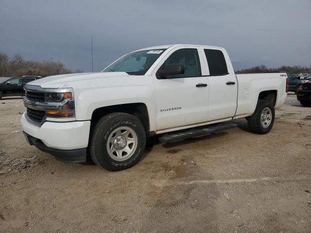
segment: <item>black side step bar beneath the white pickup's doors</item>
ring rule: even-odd
[[[164,135],[159,138],[159,141],[161,143],[177,142],[177,141],[181,141],[187,138],[205,136],[210,133],[218,133],[221,131],[225,131],[225,130],[233,129],[237,127],[238,127],[238,124],[227,123],[227,124],[219,124],[219,125],[210,126],[208,128],[190,129],[189,131],[185,131],[181,133]]]

